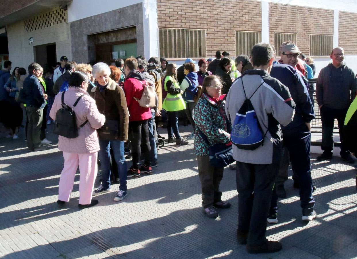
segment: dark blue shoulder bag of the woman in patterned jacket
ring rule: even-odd
[[[198,129],[198,133],[209,146],[207,136],[203,134],[200,129]],[[235,161],[233,158],[232,144],[229,146],[223,143],[214,144],[208,148],[208,155],[210,156],[212,166],[216,168],[225,167]]]

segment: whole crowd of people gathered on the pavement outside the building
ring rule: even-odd
[[[10,74],[11,62],[5,61],[0,71],[0,110],[6,112],[0,114],[0,120],[9,129],[7,137],[18,139],[25,109],[27,149],[39,151],[51,144],[46,139],[46,125],[59,126],[56,116],[64,105],[75,112],[77,136],[59,134],[64,168],[57,203],[64,206],[69,201],[79,167],[80,209],[98,203],[93,195],[111,191],[112,174],[119,179],[114,200],[120,201],[128,194],[127,177],[153,173],[152,168],[158,166],[156,127],[161,117],[168,143],[187,145],[187,139],[194,139],[202,210],[216,218],[218,209],[231,206],[221,199],[219,190],[224,166],[213,166],[209,155],[213,145],[223,143],[236,161],[230,168],[236,170],[238,243],[246,244],[249,253],[275,252],[282,245],[267,240],[265,232],[267,223],[278,222],[277,200],[286,197],[289,164],[294,187],[299,189],[301,219],[310,221],[317,215],[310,162],[310,122],[315,111],[307,80],[313,78],[316,68],[313,59],[305,57],[291,41],[282,43],[278,51],[279,61],[275,61],[275,49],[265,43],[256,44],[250,57],[239,55],[234,60],[228,51],[216,51],[216,59],[198,61],[197,71],[190,58],[177,68],[157,57],[130,57],[117,59],[115,65],[99,62],[91,66],[62,56],[56,68],[31,63],[28,74],[25,68],[14,68]],[[341,158],[354,163],[356,75],[343,62],[342,48],[334,48],[330,57],[332,63],[321,70],[316,83],[323,150],[317,159],[332,158],[333,122],[337,119]],[[155,105],[142,105],[143,93],[150,87],[155,89],[151,96]],[[255,113],[262,141],[242,147],[236,139],[257,131],[250,124],[237,123],[237,116],[248,118],[240,114],[247,103],[250,110],[246,114]],[[193,128],[187,139],[178,127],[182,111]],[[125,154],[130,152],[132,165],[128,169]],[[100,185],[94,188],[98,164]]]

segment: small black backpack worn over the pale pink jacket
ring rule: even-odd
[[[74,113],[73,108],[77,105],[79,100],[83,95],[78,97],[76,102],[73,105],[73,108],[70,108],[67,104],[64,103],[64,95],[65,92],[62,92],[61,100],[62,100],[62,108],[59,109],[56,113],[55,126],[53,128],[53,133],[64,136],[69,139],[77,138],[78,136],[78,128],[76,123],[76,114]],[[80,128],[82,128],[88,120],[86,120]]]

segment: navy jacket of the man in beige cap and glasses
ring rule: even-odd
[[[295,68],[290,65],[273,64],[270,75],[289,89],[296,104],[294,119],[287,126],[282,126],[282,130],[300,127],[315,118],[306,85]]]

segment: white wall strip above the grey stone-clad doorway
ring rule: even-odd
[[[68,5],[68,20],[76,21],[93,15],[106,13],[125,6],[142,3],[143,0],[74,0]],[[118,14],[120,15],[120,13]]]

